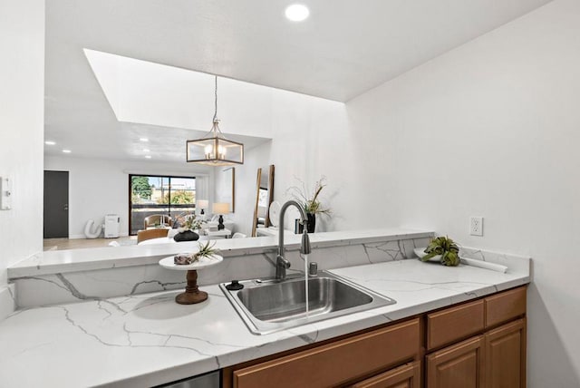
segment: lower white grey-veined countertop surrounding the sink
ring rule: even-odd
[[[169,383],[527,284],[516,260],[505,274],[416,259],[335,269],[397,303],[271,335],[252,335],[218,286],[192,306],[166,291],[19,310],[0,322],[0,386]]]

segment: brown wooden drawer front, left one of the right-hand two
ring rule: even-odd
[[[457,342],[484,328],[484,301],[446,308],[427,315],[427,348]]]

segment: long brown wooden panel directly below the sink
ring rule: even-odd
[[[326,387],[417,359],[419,319],[234,371],[235,388]]]

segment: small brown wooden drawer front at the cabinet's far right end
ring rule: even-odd
[[[526,286],[498,295],[488,296],[486,302],[486,327],[498,325],[526,314]]]

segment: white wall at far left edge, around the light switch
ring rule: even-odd
[[[43,0],[0,0],[0,53],[0,176],[13,179],[12,209],[0,210],[2,291],[6,267],[43,249]]]

